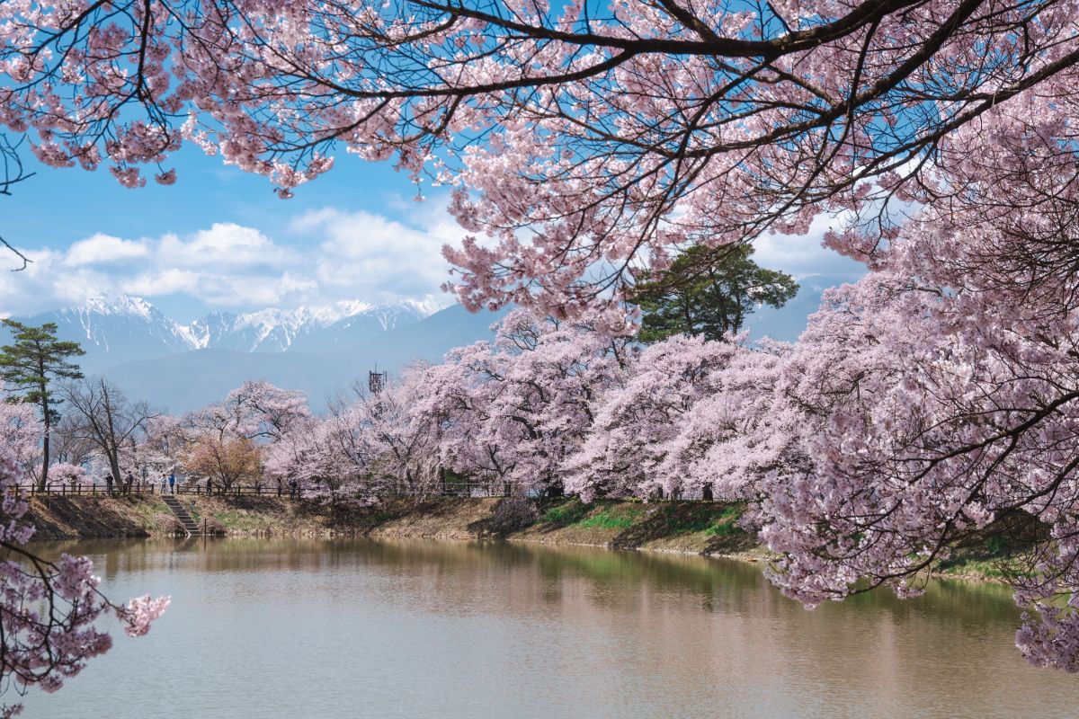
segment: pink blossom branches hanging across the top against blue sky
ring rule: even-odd
[[[467,305],[559,314],[685,246],[947,197],[964,164],[1002,177],[991,142],[1066,143],[1076,15],[1071,0],[18,0],[0,10],[0,124],[42,162],[131,186],[145,166],[174,182],[185,141],[284,195],[334,146],[395,157],[493,236],[448,252]]]

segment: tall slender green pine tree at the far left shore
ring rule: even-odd
[[[60,417],[56,407],[63,401],[53,395],[51,385],[58,378],[81,378],[79,365],[69,361],[69,358],[86,352],[77,342],[58,341],[54,322],[30,327],[4,319],[0,323],[12,333],[12,344],[0,347],[0,378],[14,392],[12,399],[41,407],[44,434],[38,486],[44,489],[49,481],[49,437],[53,425]]]

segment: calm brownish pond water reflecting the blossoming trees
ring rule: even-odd
[[[172,594],[26,717],[1076,717],[999,586],[812,612],[753,565],[533,545],[113,541],[115,598]],[[113,632],[117,635],[117,632]]]

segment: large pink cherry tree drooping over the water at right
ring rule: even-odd
[[[776,581],[810,605],[909,594],[956,545],[1005,537],[1024,550],[1021,649],[1077,670],[1076,205],[1069,178],[1024,182],[1057,194],[1017,210],[1012,183],[1007,213],[994,188],[961,216],[926,208],[825,298],[784,370],[804,461],[770,473],[760,516]]]

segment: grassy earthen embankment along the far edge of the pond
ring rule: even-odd
[[[768,553],[737,526],[738,504],[720,502],[543,500],[527,517],[500,517],[500,499],[432,497],[392,500],[374,508],[328,507],[311,501],[263,497],[181,497],[192,516],[217,522],[235,536],[427,537],[506,539],[613,549],[737,555],[765,559]],[[150,537],[161,535],[172,516],[158,496],[36,497],[28,518],[36,539]],[[970,542],[941,562],[951,577],[1001,579],[1014,568],[1013,547],[999,538]]]

